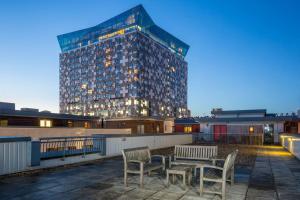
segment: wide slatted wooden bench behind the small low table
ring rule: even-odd
[[[210,164],[218,155],[218,146],[176,145],[171,165]],[[214,164],[214,163],[213,163]]]

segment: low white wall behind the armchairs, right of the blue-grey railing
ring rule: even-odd
[[[127,148],[148,146],[150,149],[171,147],[177,144],[192,143],[192,135],[158,135],[136,137],[111,137],[106,139],[106,155],[121,155],[121,151]]]

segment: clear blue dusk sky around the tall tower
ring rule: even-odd
[[[97,25],[143,4],[162,28],[191,46],[188,105],[300,108],[300,1],[0,2],[0,101],[58,112],[56,36]]]

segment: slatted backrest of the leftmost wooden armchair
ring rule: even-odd
[[[122,150],[122,155],[125,164],[130,160],[138,160],[143,162],[149,162],[151,160],[149,147],[124,149]]]

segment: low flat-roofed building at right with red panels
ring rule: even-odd
[[[218,138],[227,134],[264,134],[264,139],[279,142],[279,133],[300,133],[297,115],[278,116],[266,109],[222,110],[213,109],[211,117],[195,118],[200,132]]]

